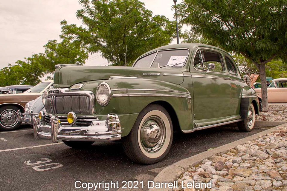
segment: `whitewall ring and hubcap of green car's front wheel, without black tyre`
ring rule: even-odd
[[[138,144],[141,152],[149,158],[161,156],[170,143],[171,128],[167,116],[152,110],[143,117],[138,129]]]

